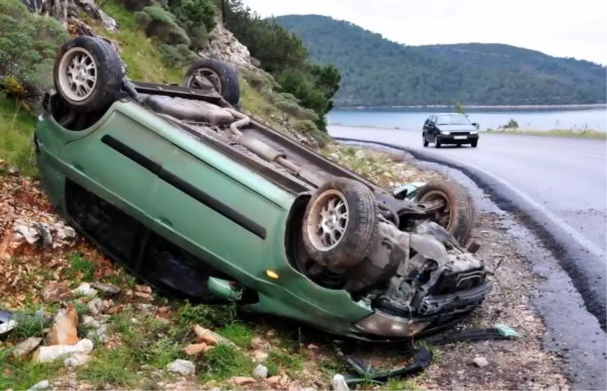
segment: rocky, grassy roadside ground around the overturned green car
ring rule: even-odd
[[[337,144],[321,152],[387,189],[439,178],[401,155]],[[339,389],[334,376],[349,373],[323,333],[158,296],[57,218],[37,181],[1,162],[0,173],[0,308],[27,314],[0,338],[0,389],[320,390]],[[502,322],[521,338],[434,348],[421,375],[357,387],[568,389],[560,359],[542,349],[541,319],[528,307],[537,277],[500,216],[477,215],[473,236],[498,283],[458,327]],[[357,353],[385,366],[410,360],[402,351],[374,345]]]

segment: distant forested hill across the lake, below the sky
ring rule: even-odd
[[[607,67],[502,44],[410,46],[319,15],[275,20],[342,73],[336,106],[607,102]]]

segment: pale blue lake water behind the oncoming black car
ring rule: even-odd
[[[432,109],[334,109],[328,114],[329,125],[421,129],[432,113],[450,112],[449,108]],[[607,132],[607,108],[592,109],[466,109],[470,122],[478,122],[481,130],[497,129],[510,119],[525,130],[584,130]]]

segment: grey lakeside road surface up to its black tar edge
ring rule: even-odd
[[[421,130],[331,126],[331,136],[406,147],[480,173],[560,245],[563,268],[607,330],[607,142],[481,134],[478,147],[422,147]],[[416,156],[419,158],[419,155]]]

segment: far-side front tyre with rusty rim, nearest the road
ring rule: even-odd
[[[460,244],[465,245],[474,224],[474,206],[469,192],[460,184],[449,181],[428,182],[418,190],[416,201],[443,201],[448,206],[446,213],[436,213],[432,219],[449,231]]]

